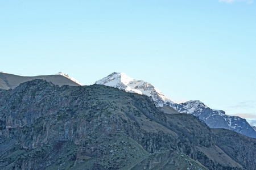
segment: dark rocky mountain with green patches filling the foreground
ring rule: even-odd
[[[107,86],[35,79],[0,90],[0,169],[255,169],[256,139],[231,133],[246,147]]]

